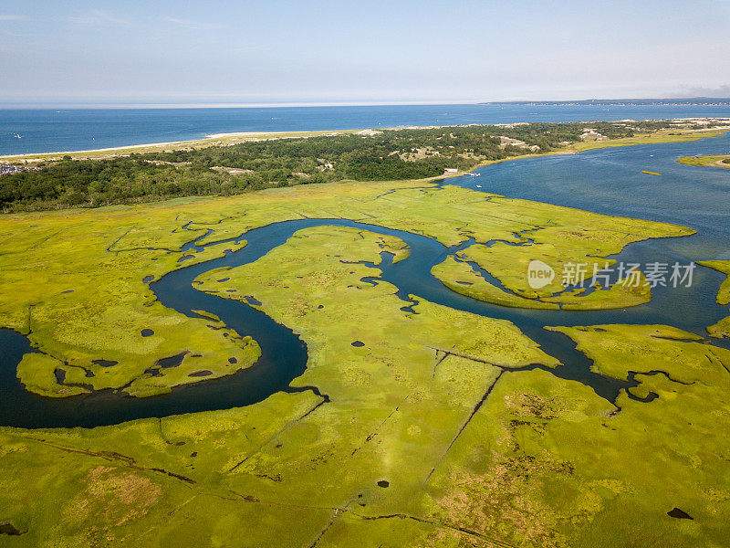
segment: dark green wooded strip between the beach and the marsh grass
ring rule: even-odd
[[[106,160],[66,156],[41,164],[39,171],[0,176],[0,210],[232,195],[342,180],[420,179],[441,175],[446,167],[469,170],[485,161],[529,153],[530,147],[554,151],[581,141],[587,128],[615,139],[671,126],[670,121],[474,125],[271,139]]]

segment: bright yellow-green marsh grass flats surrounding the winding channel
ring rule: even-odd
[[[21,381],[55,397],[123,386],[146,396],[202,382],[189,376],[201,369],[220,377],[254,363],[258,345],[246,333],[165,309],[144,280],[231,248],[214,244],[178,262],[189,253],[184,242],[207,229],[214,243],[305,217],[359,220],[445,246],[473,237],[435,273],[449,287],[471,276],[466,294],[525,307],[552,308],[550,295],[565,289],[528,288],[530,258],[554,261],[559,272],[568,258],[592,261],[631,241],[691,233],[425,181],[1,216],[0,326],[42,351],[23,360]],[[485,247],[493,240],[520,245]],[[200,290],[229,299],[253,296],[299,334],[309,361],[293,383],[298,392],[112,427],[0,427],[0,545],[730,543],[730,352],[671,326],[553,328],[601,374],[632,372],[631,395],[658,395],[645,403],[624,392],[614,405],[551,374],[558,360],[509,321],[418,295],[412,312],[401,310],[397,288],[362,281],[380,273],[382,251],[408,260],[397,237],[307,228],[227,269],[224,281],[220,271],[197,279]],[[511,291],[474,278],[465,258]],[[558,300],[596,308],[648,298],[609,290]],[[182,352],[178,367],[145,373]],[[90,387],[59,384],[58,368]],[[673,508],[693,520],[668,515]]]

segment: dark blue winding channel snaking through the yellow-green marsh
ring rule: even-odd
[[[503,169],[508,169],[508,166]],[[465,179],[472,180],[463,181],[464,186],[479,182],[479,178],[475,177]],[[458,181],[450,182],[454,183],[459,184]],[[546,200],[551,201],[547,198]],[[601,212],[604,212],[603,210],[604,208],[600,208]],[[643,217],[652,218],[652,215]],[[682,221],[681,218],[674,219],[674,222]],[[693,226],[692,223],[686,224]],[[242,335],[251,335],[262,349],[262,356],[254,366],[234,375],[174,388],[168,395],[136,398],[105,390],[91,395],[53,399],[29,393],[20,384],[16,378],[16,366],[24,353],[34,350],[25,336],[9,330],[0,330],[0,351],[2,351],[0,425],[32,428],[96,427],[144,417],[247,406],[279,391],[301,390],[289,387],[291,381],[305,371],[308,360],[306,345],[297,334],[243,301],[227,300],[195,290],[193,279],[210,269],[254,262],[271,249],[284,244],[297,230],[319,226],[355,227],[401,238],[409,247],[410,257],[393,264],[392,256],[383,253],[382,263],[375,267],[381,269],[381,276],[369,278],[368,281],[376,284],[385,281],[398,288],[398,296],[403,300],[404,309],[412,305],[412,300],[408,297],[412,294],[418,296],[418,299],[429,300],[455,310],[513,321],[528,337],[538,342],[547,353],[558,358],[563,364],[550,370],[553,374],[589,385],[598,395],[610,401],[614,401],[621,390],[636,385],[632,375],[629,381],[620,381],[591,373],[589,360],[576,351],[575,344],[560,333],[546,331],[544,326],[662,323],[705,336],[705,326],[727,315],[727,310],[714,302],[715,292],[723,276],[708,269],[703,269],[701,283],[682,290],[657,288],[653,291],[652,302],[631,309],[616,311],[510,309],[470,299],[448,290],[431,274],[434,265],[453,255],[458,249],[468,246],[471,241],[458,247],[446,248],[429,237],[344,219],[286,221],[255,228],[242,237],[230,240],[246,240],[247,245],[236,252],[228,253],[224,258],[175,270],[151,283],[151,290],[164,306],[188,316],[195,316],[193,310],[214,313],[235,331]],[[189,242],[183,250],[196,248],[196,242],[203,238],[199,235],[196,237],[197,239]],[[692,241],[693,238],[696,240],[701,236],[672,239]],[[701,247],[707,248],[707,245],[702,244]],[[692,248],[692,244],[685,244],[684,248]],[[677,253],[676,247],[672,248],[657,240],[651,240],[632,244],[624,249],[618,258],[627,262],[646,262],[648,258],[652,261],[669,262],[677,258]],[[489,277],[484,271],[481,273],[489,281],[499,285],[498,281]],[[714,340],[713,343],[727,346],[726,341]],[[650,395],[648,399],[651,400],[652,396]]]

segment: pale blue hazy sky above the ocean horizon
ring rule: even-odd
[[[0,4],[0,103],[730,96],[730,1]]]

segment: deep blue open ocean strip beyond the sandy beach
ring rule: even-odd
[[[730,117],[730,107],[391,105],[235,109],[17,109],[0,110],[0,155],[186,141],[227,132],[348,130],[516,121],[658,120],[704,116]]]

